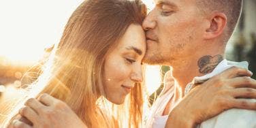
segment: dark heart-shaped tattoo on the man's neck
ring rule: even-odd
[[[201,74],[209,74],[212,70],[217,67],[217,65],[223,60],[223,57],[220,54],[212,56],[204,56],[197,61],[199,67],[199,72]]]

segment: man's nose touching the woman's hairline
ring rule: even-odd
[[[142,22],[142,27],[144,31],[148,31],[150,29],[153,29],[155,25],[156,25],[155,16],[153,12],[150,12]]]

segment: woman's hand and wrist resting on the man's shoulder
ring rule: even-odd
[[[251,71],[232,67],[195,86],[170,112],[165,127],[195,127],[224,110],[241,108],[256,110],[256,80]]]

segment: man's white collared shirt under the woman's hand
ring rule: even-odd
[[[201,77],[195,77],[193,82],[189,83],[186,87],[185,94],[191,89],[193,83],[202,83],[220,74],[225,69],[230,67],[248,67],[247,62],[232,62],[223,60],[217,67],[210,73]],[[161,95],[151,108],[150,114],[148,116],[148,121],[146,121],[146,128],[163,128],[165,127],[168,116],[162,116],[163,110],[167,102],[174,95],[174,85],[177,84],[175,81],[172,86],[169,84],[167,87],[164,87]],[[256,101],[256,99],[247,99],[251,101]],[[202,124],[198,125],[197,128],[256,128],[256,111],[255,110],[242,110],[242,109],[231,109],[225,112],[222,112],[218,116],[214,116],[207,121],[204,121]]]

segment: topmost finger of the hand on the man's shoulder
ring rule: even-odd
[[[238,76],[252,76],[253,73],[248,69],[240,68],[240,67],[231,67],[225,71],[223,71],[220,76],[223,78],[235,78]]]

